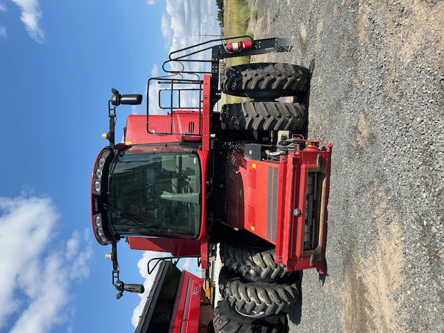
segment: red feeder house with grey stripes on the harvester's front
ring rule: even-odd
[[[316,144],[316,142],[313,142]],[[227,161],[227,223],[276,245],[275,260],[288,271],[321,268],[327,234],[327,199],[331,145],[281,156],[279,162],[248,160],[230,153]],[[318,246],[304,250],[307,179],[324,175],[319,212]],[[293,214],[295,209],[300,215]]]

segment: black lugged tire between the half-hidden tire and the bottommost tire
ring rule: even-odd
[[[264,318],[287,312],[300,293],[298,282],[248,282],[223,268],[219,285],[223,298],[239,314],[250,318]]]

